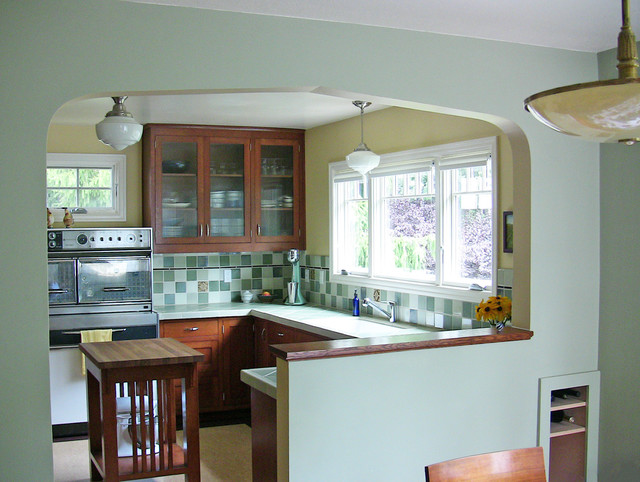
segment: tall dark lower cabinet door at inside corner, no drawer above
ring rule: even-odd
[[[251,317],[222,318],[222,330],[223,405],[249,406],[249,386],[240,380],[240,370],[255,367],[253,320]]]

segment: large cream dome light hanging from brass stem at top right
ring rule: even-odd
[[[640,79],[628,0],[622,0],[617,58],[617,79],[546,90],[525,99],[525,109],[563,134],[597,142],[635,144],[640,141]]]

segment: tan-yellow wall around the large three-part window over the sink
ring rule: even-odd
[[[399,107],[365,114],[364,125],[365,143],[378,154],[502,134],[500,129],[485,121]],[[359,116],[309,129],[305,133],[307,252],[310,254],[330,254],[329,163],[344,160],[359,142]],[[498,212],[502,212],[513,209],[513,159],[506,136],[499,139],[498,146]],[[512,268],[512,258],[511,254],[500,253],[499,266]]]

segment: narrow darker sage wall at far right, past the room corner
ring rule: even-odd
[[[615,51],[600,78],[617,77]],[[640,474],[640,145],[600,149],[600,480]]]

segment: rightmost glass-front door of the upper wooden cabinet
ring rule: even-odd
[[[300,143],[294,140],[257,141],[257,234],[260,240],[293,241],[299,236]]]

